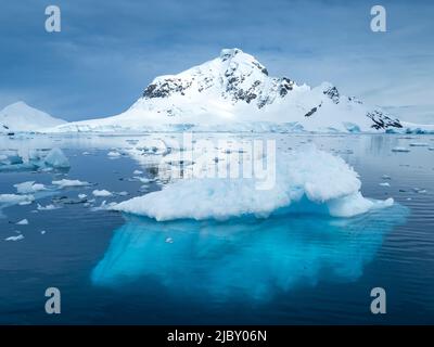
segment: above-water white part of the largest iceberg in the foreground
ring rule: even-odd
[[[156,220],[201,220],[268,217],[291,210],[349,217],[393,204],[393,200],[365,198],[358,174],[342,158],[314,147],[281,154],[277,164],[276,183],[269,190],[257,190],[255,180],[246,178],[184,179],[113,209]]]

